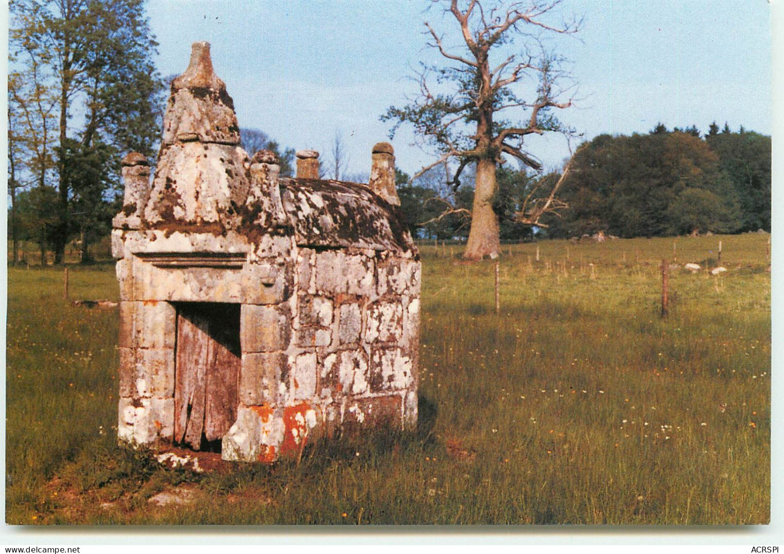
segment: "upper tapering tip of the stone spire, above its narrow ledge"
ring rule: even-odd
[[[240,143],[234,101],[212,69],[209,42],[194,42],[191,63],[172,81],[163,129],[164,147],[193,141]]]

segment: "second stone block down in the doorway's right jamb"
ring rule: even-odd
[[[244,353],[240,371],[240,402],[273,406],[285,398],[288,368],[282,353]]]

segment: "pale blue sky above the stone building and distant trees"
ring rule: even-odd
[[[351,173],[368,172],[373,143],[387,139],[379,115],[416,92],[410,79],[426,48],[424,21],[455,24],[427,2],[229,2],[153,0],[151,26],[163,75],[187,67],[191,42],[212,43],[216,72],[234,98],[241,127],[280,143],[321,152],[336,132]],[[550,43],[572,60],[575,107],[561,113],[586,139],[603,132],[647,132],[711,121],[770,134],[771,5],[768,0],[564,0],[560,14],[583,16],[578,34]],[[452,35],[454,36],[454,35]],[[451,42],[449,42],[451,41]],[[447,44],[459,45],[447,34]],[[410,130],[393,144],[398,167],[433,161],[412,146]],[[547,166],[568,156],[561,136],[530,144]]]

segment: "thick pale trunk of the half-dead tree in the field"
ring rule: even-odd
[[[471,230],[466,252],[463,254],[465,259],[495,256],[501,250],[498,216],[492,208],[496,188],[495,161],[477,161],[477,186],[474,191],[474,207],[471,210]]]

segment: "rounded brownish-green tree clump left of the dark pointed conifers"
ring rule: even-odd
[[[570,208],[550,222],[554,236],[602,230],[653,237],[739,228],[737,194],[717,155],[691,132],[597,136],[575,154],[562,197]]]

